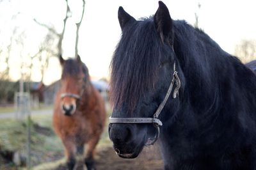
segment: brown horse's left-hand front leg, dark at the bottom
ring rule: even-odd
[[[65,146],[68,170],[73,170],[76,165],[76,144],[65,140],[63,140],[63,144]]]

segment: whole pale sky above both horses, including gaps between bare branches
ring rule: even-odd
[[[13,10],[21,10],[36,19],[49,24],[54,22],[61,30],[62,17],[65,13],[64,0],[26,0],[17,1]],[[71,3],[79,2],[70,1]],[[204,29],[222,49],[234,53],[234,47],[243,39],[256,40],[256,1],[255,0],[168,0],[163,1],[170,11],[172,19],[184,19],[189,24],[195,23],[195,12],[199,15],[199,27]],[[198,11],[198,2],[201,8]],[[28,5],[29,4],[29,5]],[[81,3],[72,4],[73,18],[68,21],[67,35],[63,42],[64,58],[74,56],[74,38],[76,26],[74,20],[81,12]],[[88,66],[90,75],[99,79],[108,77],[109,63],[121,35],[117,19],[119,6],[123,6],[135,19],[148,17],[156,13],[156,0],[86,0],[84,19],[79,33],[79,55]],[[17,9],[16,9],[17,8]],[[31,31],[40,36],[40,31]],[[70,50],[72,49],[72,50]],[[52,59],[46,73],[45,84],[60,79],[60,66],[57,59]],[[36,79],[36,74],[33,75]]]

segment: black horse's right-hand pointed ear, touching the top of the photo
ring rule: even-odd
[[[162,1],[159,1],[159,7],[154,15],[154,23],[161,40],[173,45],[172,18],[167,6]]]

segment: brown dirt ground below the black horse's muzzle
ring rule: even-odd
[[[139,157],[134,159],[124,159],[118,157],[113,148],[107,147],[99,151],[96,162],[97,170],[160,170],[163,169],[163,161],[156,146],[144,148]],[[66,169],[61,165],[54,170]],[[77,164],[77,170],[83,169],[83,162]]]

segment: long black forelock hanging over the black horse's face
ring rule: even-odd
[[[111,103],[132,112],[141,97],[154,88],[161,58],[161,41],[152,18],[124,30],[111,61]]]

